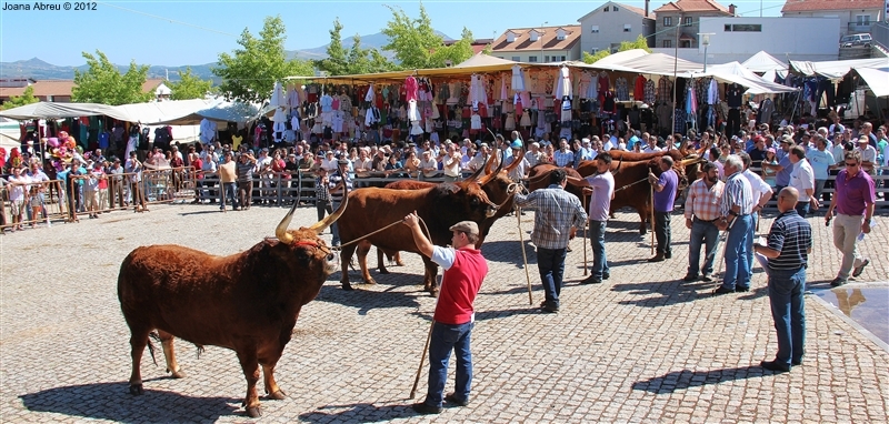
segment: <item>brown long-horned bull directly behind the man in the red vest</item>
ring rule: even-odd
[[[410,212],[417,211],[429,230],[428,235],[433,243],[439,245],[450,243],[452,233],[449,229],[457,222],[475,221],[481,228],[486,222],[492,223],[493,221],[489,220],[495,219],[499,213],[508,212],[511,206],[510,200],[503,199],[500,203],[495,203],[485,189],[489,186],[492,190],[495,186],[500,186],[499,175],[502,164],[496,171],[480,178],[481,172],[490,171],[492,163],[493,161],[489,160],[486,166],[465,181],[441,184],[416,184],[412,182],[406,189],[367,188],[351,192],[349,194],[350,206],[337,224],[340,240],[343,243],[340,280],[342,287],[352,290],[347,270],[356,250],[358,251],[361,277],[367,284],[376,284],[367,266],[367,255],[371,245],[376,245],[389,254],[399,251],[419,253],[410,229],[404,225],[393,225],[379,233],[368,235],[378,229],[402,220]],[[505,210],[506,212],[502,212]],[[490,229],[490,224],[488,229]],[[353,241],[359,242],[350,244]],[[381,264],[381,258],[378,259],[378,265]],[[434,275],[438,265],[426,256],[423,256],[423,263],[426,265],[423,287],[437,295],[438,287]]]

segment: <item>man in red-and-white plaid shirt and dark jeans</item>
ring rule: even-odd
[[[719,181],[719,172],[713,162],[701,166],[702,176],[691,183],[686,198],[686,228],[691,230],[688,242],[688,274],[685,281],[710,281],[708,276],[713,272],[713,260],[719,244],[719,229],[716,221],[719,219],[719,205],[726,184]],[[703,269],[700,267],[701,242],[705,244]]]

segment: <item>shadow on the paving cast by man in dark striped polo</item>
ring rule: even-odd
[[[655,394],[675,393],[689,387],[699,387],[708,384],[719,384],[735,380],[761,377],[772,374],[760,366],[739,366],[737,369],[710,371],[673,371],[659,377],[638,381],[632,384],[632,390],[646,391]]]

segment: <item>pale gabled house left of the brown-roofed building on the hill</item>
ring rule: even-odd
[[[617,52],[621,41],[646,37],[655,47],[655,14],[647,10],[613,1],[599,6],[577,21],[580,22],[580,49],[593,54],[600,50]]]

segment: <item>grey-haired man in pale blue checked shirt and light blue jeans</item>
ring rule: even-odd
[[[753,193],[750,182],[742,175],[741,158],[729,154],[723,169],[729,178],[722,192],[719,206],[722,216],[717,220],[717,228],[728,231],[729,234],[726,240],[726,273],[722,285],[713,292],[717,295],[750,290],[750,286],[741,284],[750,281],[747,238],[750,236],[750,226],[753,224],[750,215],[753,211]]]

